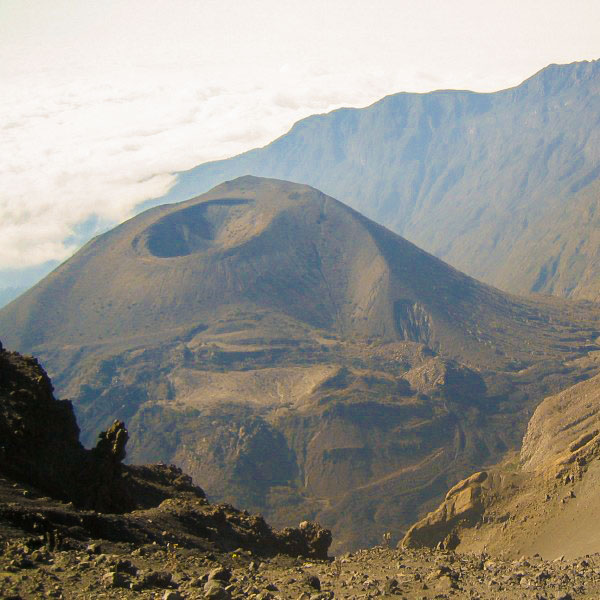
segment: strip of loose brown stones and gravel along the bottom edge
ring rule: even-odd
[[[600,596],[600,556],[518,561],[376,547],[330,560],[198,551],[171,544],[0,545],[0,595],[19,598],[519,598]]]

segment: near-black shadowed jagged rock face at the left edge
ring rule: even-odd
[[[124,512],[144,505],[125,481],[128,432],[123,422],[115,421],[100,433],[96,447],[86,450],[71,402],[54,398],[37,359],[0,345],[0,376],[3,475],[79,508]]]

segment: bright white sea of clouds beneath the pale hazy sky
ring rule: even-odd
[[[42,85],[39,82],[43,81]],[[0,98],[0,269],[64,260],[165,194],[172,173],[264,145],[298,119],[387,91],[377,75],[290,72],[210,86],[193,72],[19,78]]]

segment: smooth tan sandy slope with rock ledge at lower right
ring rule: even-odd
[[[505,463],[457,484],[403,544],[550,559],[597,552],[599,395],[596,376],[544,400],[529,422],[518,465]]]

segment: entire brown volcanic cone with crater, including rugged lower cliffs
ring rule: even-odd
[[[596,374],[594,306],[456,271],[306,185],[242,177],[90,241],[0,310],[82,439],[128,423],[277,526],[336,548],[398,535],[515,447],[544,396]]]

